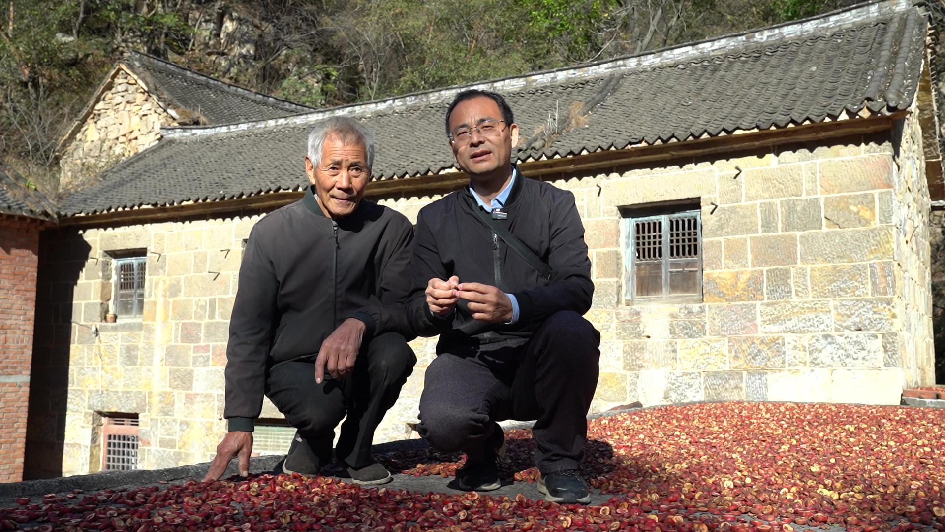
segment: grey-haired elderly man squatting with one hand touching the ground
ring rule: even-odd
[[[219,478],[234,456],[240,474],[249,474],[264,393],[297,429],[283,471],[318,474],[345,418],[335,457],[352,481],[391,480],[370,446],[417,362],[404,339],[413,228],[362,199],[373,158],[365,127],[344,117],[319,122],[305,157],[312,186],[249,234],[227,346],[230,432],[205,481]]]

